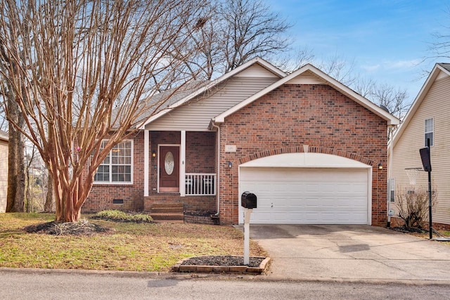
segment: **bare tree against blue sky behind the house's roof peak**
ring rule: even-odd
[[[195,22],[192,41],[199,53],[186,60],[186,73],[212,79],[260,56],[278,58],[289,50],[290,27],[259,0],[214,0]]]

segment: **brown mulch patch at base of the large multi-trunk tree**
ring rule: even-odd
[[[27,233],[42,233],[47,235],[83,235],[90,236],[97,233],[108,233],[110,228],[99,226],[95,223],[83,220],[79,222],[56,222],[40,223],[23,228]]]

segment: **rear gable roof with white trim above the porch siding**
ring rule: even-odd
[[[198,84],[196,88],[193,89],[187,89],[182,93],[178,93],[178,95],[171,97],[167,103],[165,103],[165,107],[157,112],[154,115],[151,115],[148,117],[146,122],[143,122],[141,126],[139,126],[140,129],[143,129],[146,124],[149,124],[155,119],[159,119],[160,117],[166,115],[167,113],[174,110],[176,107],[179,107],[181,105],[184,105],[189,100],[192,100],[196,96],[201,95],[202,93],[205,93],[205,91],[208,91],[210,89],[213,89],[218,84],[221,84],[221,82],[224,82],[226,79],[229,79],[233,76],[236,76],[236,74],[239,74],[240,72],[243,72],[244,70],[248,69],[252,65],[259,65],[263,67],[265,70],[271,72],[272,74],[275,74],[277,77],[285,77],[286,73],[279,70],[274,65],[271,65],[271,63],[268,63],[266,60],[263,60],[262,58],[253,58],[252,60],[249,60],[247,63],[244,63],[243,65],[240,65],[239,67],[236,67],[236,69],[231,70],[230,72],[227,72],[226,74],[222,75],[221,77],[214,79],[212,81],[205,81],[203,84]],[[160,96],[161,97],[161,96]]]

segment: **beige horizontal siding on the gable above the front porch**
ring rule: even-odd
[[[146,129],[158,131],[207,131],[210,121],[230,107],[242,102],[278,77],[232,77],[210,91],[210,95],[198,96],[190,103],[178,107],[148,124]]]

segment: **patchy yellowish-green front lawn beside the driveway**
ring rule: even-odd
[[[164,272],[186,257],[243,255],[243,233],[231,226],[89,220],[113,230],[92,236],[23,230],[53,219],[53,214],[0,214],[0,267]],[[250,256],[266,253],[251,241]]]

